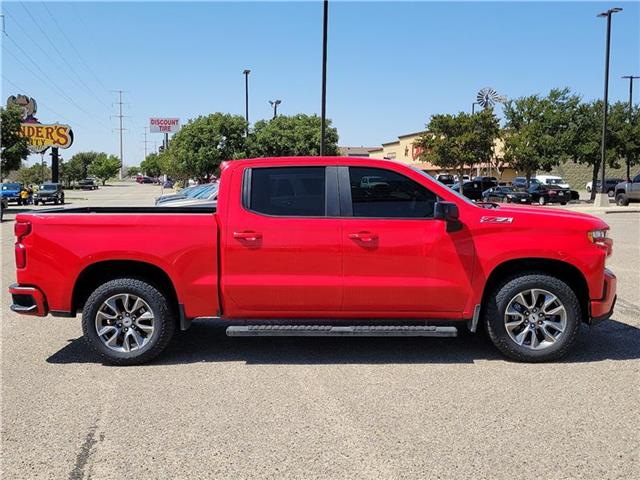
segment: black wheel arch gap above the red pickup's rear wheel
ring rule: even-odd
[[[76,278],[71,297],[71,312],[81,310],[97,287],[117,278],[136,278],[150,283],[165,293],[171,306],[178,311],[178,294],[171,278],[162,268],[138,260],[104,260],[86,266]]]

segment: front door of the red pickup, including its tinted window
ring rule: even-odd
[[[469,235],[433,219],[437,197],[397,172],[340,167],[343,310],[459,318],[471,283]],[[345,192],[345,190],[347,190]]]

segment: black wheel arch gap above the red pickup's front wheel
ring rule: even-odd
[[[585,323],[589,321],[589,287],[586,278],[574,265],[551,258],[518,258],[497,265],[485,283],[482,293],[483,308],[496,286],[503,279],[519,272],[542,273],[565,282],[578,297],[582,321]]]

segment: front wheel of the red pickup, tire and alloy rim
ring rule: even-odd
[[[483,310],[493,344],[519,362],[546,362],[566,355],[582,319],[573,290],[562,280],[535,272],[505,279]]]

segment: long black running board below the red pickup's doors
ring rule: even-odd
[[[456,337],[456,327],[408,325],[241,325],[229,337]]]

